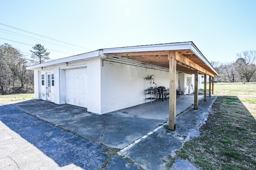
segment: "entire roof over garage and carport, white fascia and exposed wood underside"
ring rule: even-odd
[[[171,51],[175,51],[177,71],[194,74],[194,70],[198,70],[200,74],[208,74],[211,76],[218,75],[217,71],[212,67],[206,57],[204,57],[204,55],[193,42],[99,49],[96,51],[57,59],[38,65],[32,65],[27,67],[27,69],[36,69],[40,67],[48,67],[51,65],[59,65],[67,62],[72,63],[106,57],[114,57],[115,59],[118,58],[126,61],[138,61],[141,63],[169,69],[169,57]]]

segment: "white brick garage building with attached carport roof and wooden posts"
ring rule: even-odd
[[[82,67],[87,69],[80,69]],[[44,99],[40,73],[50,71],[54,74],[54,100],[51,101],[86,107],[88,112],[98,114],[144,103],[145,88],[149,87],[145,85],[145,78],[154,75],[157,84],[153,85],[154,89],[170,88],[169,128],[172,130],[175,128],[176,87],[185,88],[190,80],[187,77],[195,75],[194,109],[197,109],[198,74],[210,78],[218,75],[193,42],[99,49],[27,69],[34,70],[35,99]],[[182,74],[186,74],[184,81],[179,79]]]

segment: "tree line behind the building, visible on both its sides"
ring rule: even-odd
[[[43,63],[49,59],[44,45],[32,47],[31,59],[8,43],[0,45],[0,93],[33,93],[34,73],[26,67]],[[218,82],[256,82],[256,50],[237,53],[237,59],[231,63],[212,61],[212,66],[219,73],[214,77]]]

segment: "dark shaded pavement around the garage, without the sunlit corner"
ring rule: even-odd
[[[83,169],[163,169],[164,158],[173,155],[183,142],[200,135],[198,129],[216,99],[200,101],[198,110],[193,110],[187,108],[194,97],[186,97],[177,100],[177,113],[182,114],[176,118],[177,130],[171,133],[166,133],[163,126],[168,121],[169,101],[97,115],[81,107],[34,99],[0,106],[0,121],[60,167],[72,164]],[[119,152],[111,156],[109,148]],[[120,156],[130,158],[135,165]]]

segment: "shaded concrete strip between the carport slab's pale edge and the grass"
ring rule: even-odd
[[[207,98],[207,101],[200,101],[198,110],[188,108],[176,117],[176,131],[170,131],[168,123],[156,128],[138,139],[130,146],[120,150],[119,154],[131,158],[136,164],[146,170],[164,169],[164,160],[168,155],[174,156],[175,151],[182,148],[184,142],[191,138],[199,137],[199,127],[208,118],[211,105],[216,96]],[[178,167],[180,164],[175,165]],[[180,167],[182,168],[182,167]]]

